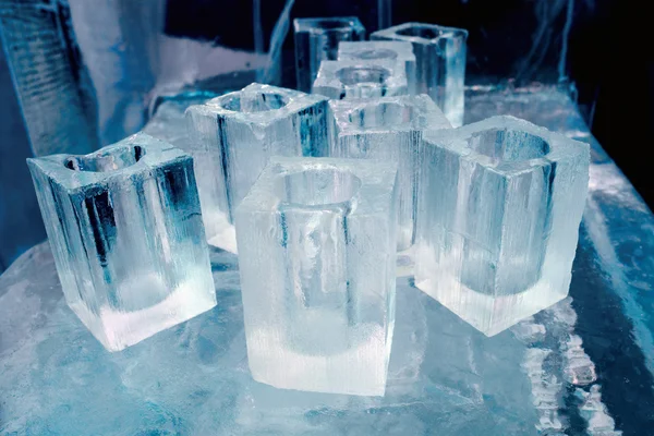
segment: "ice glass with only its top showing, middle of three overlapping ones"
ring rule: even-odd
[[[323,61],[313,93],[330,99],[409,94],[404,64],[389,59]]]

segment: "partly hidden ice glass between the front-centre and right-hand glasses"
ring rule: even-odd
[[[450,129],[427,95],[330,101],[329,155],[398,162],[398,250],[413,243],[423,133]]]

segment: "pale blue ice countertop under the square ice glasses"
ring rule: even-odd
[[[492,114],[591,143],[566,300],[486,338],[399,279],[386,396],[308,393],[250,376],[233,255],[211,253],[217,307],[108,353],[43,243],[0,276],[0,435],[654,434],[652,213],[565,89],[469,89],[467,122]]]

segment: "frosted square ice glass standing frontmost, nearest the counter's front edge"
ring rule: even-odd
[[[272,158],[237,209],[250,370],[382,396],[395,325],[397,166]]]

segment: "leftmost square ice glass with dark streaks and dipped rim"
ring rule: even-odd
[[[216,305],[191,156],[136,134],[27,164],[65,300],[107,350]]]

